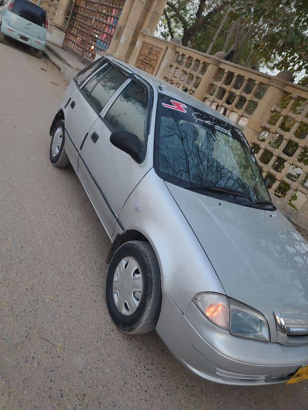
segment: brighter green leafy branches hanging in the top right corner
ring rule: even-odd
[[[302,0],[236,0],[233,16],[262,22],[254,50],[272,69],[308,74],[308,3]]]

